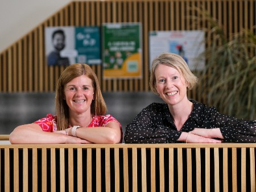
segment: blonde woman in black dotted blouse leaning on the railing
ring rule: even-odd
[[[187,98],[197,77],[184,59],[163,53],[152,61],[151,90],[164,103],[151,103],[126,126],[125,143],[256,142],[256,120],[220,114]]]

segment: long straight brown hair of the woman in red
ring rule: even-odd
[[[105,115],[107,111],[106,103],[102,97],[100,84],[98,83],[98,78],[92,68],[87,64],[69,65],[60,75],[56,87],[55,110],[57,115],[57,130],[65,130],[65,128],[68,127],[69,107],[64,100],[64,87],[68,82],[72,81],[73,78],[82,75],[85,75],[92,80],[94,100],[90,106],[90,113],[92,115]]]

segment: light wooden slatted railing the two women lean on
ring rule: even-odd
[[[256,144],[0,145],[1,191],[255,191]]]

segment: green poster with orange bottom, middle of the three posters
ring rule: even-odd
[[[103,23],[104,79],[142,78],[141,23]]]

